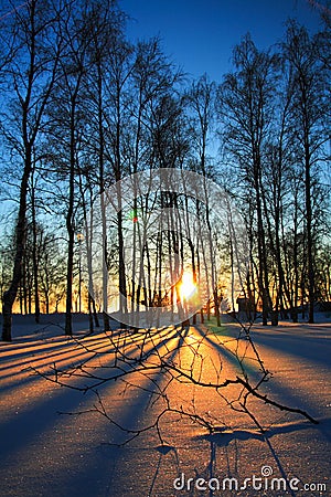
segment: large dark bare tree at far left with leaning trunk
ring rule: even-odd
[[[47,2],[46,2],[47,3]],[[7,141],[15,151],[22,167],[19,212],[15,226],[15,257],[12,279],[3,293],[2,339],[11,340],[11,315],[22,275],[26,240],[26,195],[33,170],[33,155],[44,124],[45,109],[57,76],[61,38],[56,35],[56,12],[44,1],[31,0],[24,9],[15,10],[9,22],[10,51],[14,57],[7,66],[6,82],[12,88],[7,107]]]

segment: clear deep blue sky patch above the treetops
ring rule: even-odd
[[[312,0],[317,9],[325,0]],[[279,41],[291,17],[317,31],[320,17],[309,0],[119,0],[132,20],[132,40],[160,35],[168,55],[193,77],[221,81],[232,49],[250,32],[258,47]]]

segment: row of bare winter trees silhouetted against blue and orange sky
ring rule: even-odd
[[[2,338],[11,339],[15,302],[38,320],[41,309],[65,300],[67,335],[73,306],[84,300],[85,310],[96,310],[81,271],[90,207],[128,175],[159,168],[200,173],[235,200],[248,236],[239,290],[260,307],[264,324],[277,324],[279,311],[296,320],[307,304],[312,322],[314,303],[330,300],[328,11],[313,35],[288,21],[269,51],[246,35],[221,83],[207,75],[189,82],[158,39],[132,44],[126,22],[110,0],[31,0],[2,17],[1,199],[15,203],[1,231]],[[209,225],[209,209],[203,215]],[[130,288],[120,210],[114,226],[113,241],[104,233],[103,256],[128,296],[138,289]],[[179,240],[171,243],[173,251]],[[195,264],[197,247],[189,248],[199,282],[203,265]],[[227,264],[212,264],[207,292],[216,311],[228,253]]]

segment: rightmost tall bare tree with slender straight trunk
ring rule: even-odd
[[[330,101],[325,93],[327,72],[319,57],[319,36],[310,36],[297,22],[290,21],[282,44],[282,56],[291,72],[291,114],[301,152],[305,182],[305,219],[307,236],[309,322],[313,322],[316,300],[316,245],[313,228],[313,187],[318,165],[330,140]]]

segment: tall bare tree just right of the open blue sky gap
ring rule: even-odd
[[[265,146],[274,115],[275,56],[259,52],[249,35],[234,50],[235,72],[218,87],[218,114],[224,125],[225,147],[236,163],[256,222],[258,288],[263,322],[273,310],[269,294],[267,235],[264,216]],[[252,219],[253,220],[253,219]]]

